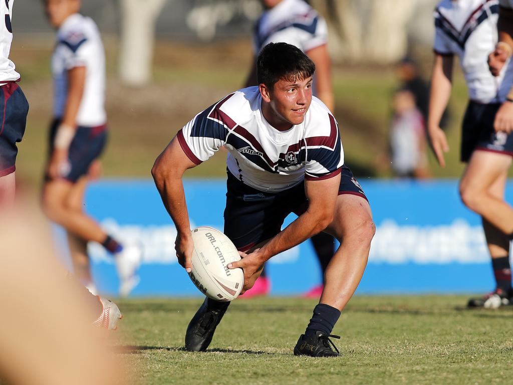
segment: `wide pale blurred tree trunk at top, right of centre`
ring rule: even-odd
[[[326,18],[333,61],[391,63],[407,49],[417,0],[311,0]]]

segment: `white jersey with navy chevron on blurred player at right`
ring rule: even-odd
[[[469,97],[478,103],[503,102],[513,84],[513,71],[495,77],[488,69],[498,12],[498,0],[443,0],[435,9],[435,52],[459,56]]]

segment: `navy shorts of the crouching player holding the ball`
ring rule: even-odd
[[[290,214],[301,215],[308,207],[305,184],[281,192],[262,192],[249,187],[228,171],[224,233],[235,247],[247,251],[281,231]],[[342,166],[339,195],[353,194],[367,200],[351,170]]]

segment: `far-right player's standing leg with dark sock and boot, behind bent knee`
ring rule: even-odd
[[[507,169],[492,182],[488,193],[498,200],[504,200],[504,189],[507,180]],[[468,301],[469,307],[496,308],[509,303],[511,295],[511,269],[509,265],[509,236],[481,217],[486,243],[494,270],[496,289],[482,298],[472,298]]]

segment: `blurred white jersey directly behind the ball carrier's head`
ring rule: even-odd
[[[260,16],[253,33],[258,54],[269,43],[288,43],[306,52],[327,43],[324,19],[303,0],[283,0]]]

